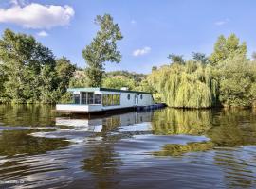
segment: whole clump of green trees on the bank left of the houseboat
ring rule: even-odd
[[[1,102],[54,103],[74,71],[69,60],[53,53],[32,36],[5,30],[0,40]]]

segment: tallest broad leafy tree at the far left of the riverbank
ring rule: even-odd
[[[5,94],[13,102],[39,100],[40,86],[45,85],[45,80],[38,76],[44,67],[53,71],[55,66],[54,55],[48,48],[32,36],[15,34],[9,29],[0,40],[0,61],[7,76]]]

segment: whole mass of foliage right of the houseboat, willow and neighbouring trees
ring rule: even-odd
[[[193,60],[154,70],[149,83],[171,107],[254,107],[256,61],[249,61],[246,54],[246,43],[240,44],[234,34],[228,38],[221,35],[209,60],[202,53],[193,53]],[[182,62],[174,55],[171,59]]]

